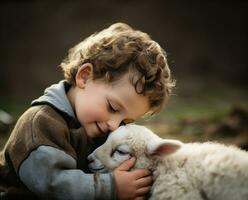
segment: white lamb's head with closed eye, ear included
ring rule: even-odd
[[[144,126],[128,124],[113,131],[106,142],[89,155],[92,172],[113,171],[121,163],[136,157],[134,168],[152,169],[162,156],[174,153],[182,143],[166,140]]]

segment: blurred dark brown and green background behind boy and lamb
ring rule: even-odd
[[[0,148],[50,84],[69,48],[114,22],[167,51],[177,86],[160,115],[140,120],[162,137],[248,149],[247,1],[0,1]]]

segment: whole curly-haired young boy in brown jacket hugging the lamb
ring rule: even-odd
[[[2,199],[143,199],[149,171],[88,173],[87,156],[120,125],[161,110],[173,81],[164,50],[116,23],[69,51],[65,80],[45,90],[18,120],[0,154]],[[111,152],[109,152],[111,154]]]

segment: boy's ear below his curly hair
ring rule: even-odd
[[[78,68],[75,81],[76,86],[84,88],[88,80],[92,79],[93,65],[91,63],[84,63]]]

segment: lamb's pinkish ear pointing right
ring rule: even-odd
[[[169,155],[176,152],[181,146],[182,142],[178,140],[166,140],[161,138],[156,138],[150,140],[147,144],[147,153],[149,155]]]

